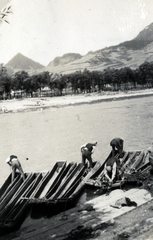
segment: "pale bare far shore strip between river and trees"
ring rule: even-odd
[[[15,113],[25,111],[42,111],[51,107],[64,107],[70,105],[92,104],[103,101],[117,101],[128,98],[153,96],[153,89],[86,93],[65,95],[59,97],[20,98],[0,101],[0,113]]]

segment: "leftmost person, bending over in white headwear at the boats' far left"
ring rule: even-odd
[[[15,172],[16,172],[16,169],[19,170],[19,172],[21,173],[22,175],[22,178],[23,180],[25,180],[25,175],[24,175],[24,172],[23,172],[23,169],[22,169],[22,166],[21,166],[21,163],[19,162],[17,156],[15,155],[11,155],[9,156],[6,161],[5,161],[7,164],[9,164],[12,168],[12,182],[15,178]]]

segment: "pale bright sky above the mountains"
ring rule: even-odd
[[[152,0],[0,0],[0,63],[17,53],[45,66],[66,53],[86,55],[132,40],[153,22]]]

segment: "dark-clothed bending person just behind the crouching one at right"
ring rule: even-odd
[[[118,150],[119,157],[123,157],[123,143],[124,140],[122,138],[114,138],[110,142],[110,146],[112,147],[112,156],[115,156],[115,150]]]

